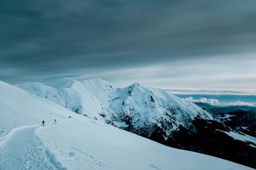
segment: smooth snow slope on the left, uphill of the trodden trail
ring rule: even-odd
[[[14,88],[3,81],[0,81],[0,97],[0,129],[4,127],[6,131],[22,125],[38,125],[42,120],[51,122],[55,118],[64,118],[69,114],[74,114],[72,111],[67,112],[58,104]],[[41,107],[42,101],[45,104]]]

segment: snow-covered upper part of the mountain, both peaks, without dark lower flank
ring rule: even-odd
[[[195,117],[212,120],[212,116],[196,104],[139,83],[115,88],[108,81],[96,78],[68,81],[54,87],[42,83],[24,83],[17,87],[86,117],[149,138],[159,129],[163,138],[169,138],[179,125],[191,129]]]

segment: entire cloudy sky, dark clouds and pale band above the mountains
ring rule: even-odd
[[[255,0],[0,0],[0,80],[256,87]]]

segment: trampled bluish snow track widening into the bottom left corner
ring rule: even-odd
[[[38,126],[20,127],[0,145],[0,170],[66,170],[35,135]]]

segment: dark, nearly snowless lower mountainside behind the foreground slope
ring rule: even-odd
[[[143,127],[136,127],[136,124],[132,124],[131,117],[125,117],[128,126],[123,129],[167,146],[204,153],[256,168],[256,144],[228,135],[229,132],[241,134],[246,131],[249,135],[255,133],[255,113],[236,111],[232,119],[226,119],[205,120],[196,117],[189,127],[179,125],[178,129],[170,132],[166,129],[172,128],[172,117],[168,123],[164,120],[156,124],[144,124]],[[246,125],[248,129],[241,128],[241,125]]]

